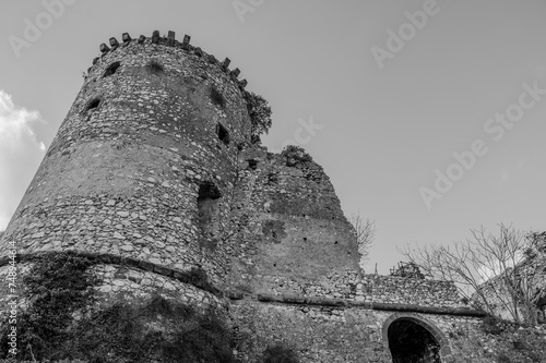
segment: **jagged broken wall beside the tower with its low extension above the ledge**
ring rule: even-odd
[[[289,161],[289,160],[288,160]],[[288,166],[288,165],[290,166]],[[244,295],[468,307],[447,281],[361,275],[354,228],[316,162],[252,147],[239,157],[229,289]]]

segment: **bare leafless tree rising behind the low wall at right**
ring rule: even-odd
[[[416,245],[399,250],[431,278],[454,281],[461,294],[479,307],[498,315],[508,311],[514,322],[535,324],[534,274],[525,252],[530,241],[512,226],[500,225],[498,235],[471,230],[472,239],[451,245]],[[527,264],[525,264],[527,262]],[[520,308],[525,310],[521,316]]]

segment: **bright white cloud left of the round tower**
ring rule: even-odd
[[[0,230],[8,225],[21,201],[46,146],[33,125],[43,122],[38,111],[13,104],[0,89]]]

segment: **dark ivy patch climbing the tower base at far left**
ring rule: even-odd
[[[17,318],[17,346],[25,347],[20,359],[55,356],[70,334],[73,313],[85,311],[94,303],[92,289],[98,279],[88,270],[92,262],[70,254],[50,254],[36,258],[22,278],[23,293],[28,306]],[[4,322],[5,323],[5,322]],[[1,356],[8,344],[2,324]]]

